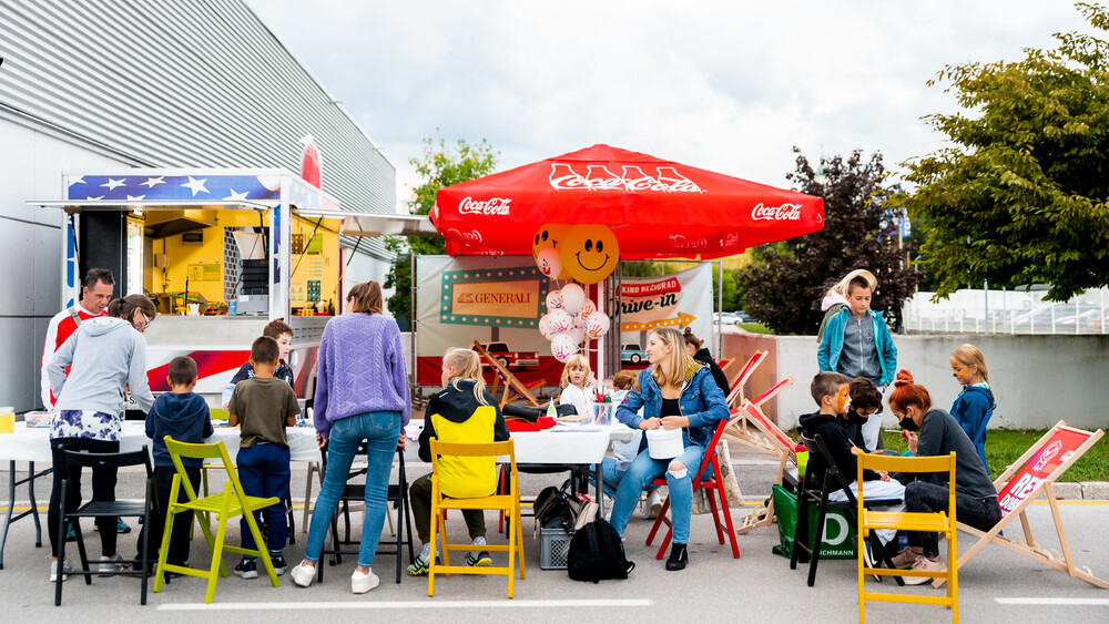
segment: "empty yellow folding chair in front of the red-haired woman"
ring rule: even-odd
[[[928,531],[942,533],[947,538],[947,569],[940,572],[925,572],[920,570],[891,570],[888,567],[868,567],[863,560],[863,549],[858,551],[858,622],[865,621],[866,601],[879,602],[906,602],[916,604],[942,604],[952,610],[953,622],[959,621],[959,592],[958,592],[958,548],[956,545],[956,519],[955,519],[955,453],[938,457],[892,457],[858,453],[858,483],[863,482],[863,471],[866,469],[886,472],[947,472],[948,473],[948,511],[936,513],[919,512],[894,512],[874,511],[864,507],[863,488],[858,489],[858,540],[859,543],[866,539],[871,531],[878,529],[894,529],[905,531]],[[904,593],[882,593],[867,592],[863,585],[863,579],[867,574],[881,574],[887,576],[929,576],[933,579],[945,579],[947,581],[947,594],[944,596],[928,596],[920,594]]]

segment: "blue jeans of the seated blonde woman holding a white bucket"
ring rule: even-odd
[[[665,474],[667,487],[670,488],[670,519],[674,528],[674,543],[688,544],[690,542],[690,519],[693,515],[693,475],[701,470],[703,459],[704,449],[696,444],[685,447],[682,454],[672,460],[651,459],[650,451],[644,449],[632,460],[617,487],[609,523],[617,530],[617,533],[623,536],[624,529],[628,528],[628,520],[631,519],[635,504],[639,502],[640,492],[648,489],[652,481]],[[684,464],[685,475],[679,479],[667,470],[671,462]]]

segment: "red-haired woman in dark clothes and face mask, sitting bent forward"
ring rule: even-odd
[[[932,407],[932,396],[924,386],[913,382],[907,370],[897,372],[894,390],[889,393],[889,409],[901,421],[902,439],[914,456],[946,456],[955,452],[955,508],[959,522],[981,531],[989,531],[1001,520],[997,490],[978,457],[970,439],[952,415]],[[919,433],[916,433],[919,431]],[[948,511],[947,484],[938,480],[913,481],[905,487],[905,510],[935,513]],[[939,556],[936,533],[908,534],[909,548],[893,559],[901,569],[939,572],[945,570]],[[906,576],[905,583],[918,585],[932,581],[928,576]]]

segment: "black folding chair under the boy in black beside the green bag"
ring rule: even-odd
[[[801,431],[798,429],[798,431]],[[797,569],[797,561],[804,563],[805,560],[808,561],[808,586],[812,587],[816,583],[816,564],[820,561],[821,549],[824,545],[824,522],[827,519],[828,510],[840,510],[847,515],[851,521],[852,526],[858,526],[858,519],[855,518],[855,510],[858,509],[858,502],[855,499],[855,494],[851,491],[852,479],[846,478],[843,471],[835,463],[835,459],[828,451],[827,446],[824,443],[824,439],[817,433],[813,438],[808,438],[805,433],[801,432],[801,442],[805,444],[808,449],[808,464],[805,469],[805,474],[802,477],[800,483],[797,484],[797,523],[794,528],[793,533],[793,553],[790,556],[790,570]],[[824,471],[823,482],[817,483],[815,467],[820,462],[813,461],[816,457],[824,460],[824,464],[827,466],[827,470]],[[862,483],[859,484],[862,487]],[[837,502],[830,500],[833,492],[837,490],[843,490],[847,495],[846,501]],[[874,509],[879,507],[889,507],[901,504],[903,501],[901,499],[878,499],[866,497],[864,499],[867,509]],[[808,546],[808,505],[810,503],[818,504],[818,512],[816,514],[816,532],[813,538],[812,548]],[[856,533],[857,534],[857,533]],[[877,565],[885,565],[886,567],[893,567],[893,562],[889,560],[888,554],[885,552],[882,542],[878,540],[877,533],[871,532],[867,538],[871,544],[871,553],[875,554]],[[863,542],[857,540],[856,548],[864,548]],[[904,585],[901,576],[895,576],[898,585]],[[879,576],[881,580],[881,576]]]

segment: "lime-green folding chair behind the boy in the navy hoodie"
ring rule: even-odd
[[[173,466],[176,468],[177,473],[173,475],[173,485],[170,490],[169,509],[166,511],[167,518],[165,519],[165,530],[162,532],[162,548],[157,555],[157,569],[154,575],[154,593],[162,591],[162,582],[166,572],[176,572],[179,574],[207,579],[207,593],[204,595],[204,602],[211,603],[215,600],[216,579],[221,575],[227,576],[228,574],[227,566],[223,563],[224,551],[258,557],[258,561],[265,566],[266,574],[269,575],[269,582],[273,583],[273,586],[276,587],[281,584],[276,572],[274,572],[274,564],[269,561],[269,553],[266,552],[265,540],[262,539],[262,532],[258,531],[258,525],[254,521],[255,511],[276,504],[281,500],[276,497],[263,499],[261,497],[247,497],[244,494],[243,485],[238,482],[238,474],[235,473],[235,468],[231,463],[231,456],[227,454],[227,447],[223,442],[190,444],[179,442],[166,436],[165,448],[170,451],[170,458],[173,459]],[[197,499],[196,492],[193,490],[193,485],[185,473],[185,467],[181,463],[181,458],[183,457],[202,460],[223,460],[223,468],[227,473],[227,482],[224,483],[223,492]],[[186,502],[177,502],[181,488],[185,489],[185,495],[189,499]],[[212,549],[212,565],[206,571],[184,567],[182,565],[170,565],[165,562],[170,552],[170,534],[173,532],[173,520],[176,514],[190,510],[197,513],[215,514],[217,519],[216,534],[214,536],[207,522],[200,523],[201,531],[204,532],[204,539],[207,540],[208,546]],[[236,515],[246,516],[246,524],[251,529],[251,534],[254,535],[256,550],[224,545],[224,536],[227,533],[227,520]]]

